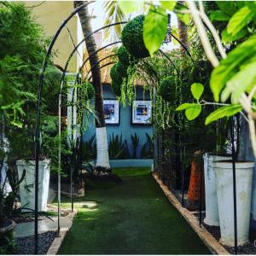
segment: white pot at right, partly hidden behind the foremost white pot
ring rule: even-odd
[[[215,162],[230,160],[230,156],[204,154],[205,190],[206,190],[206,218],[204,223],[209,226],[219,226],[218,201],[215,178]]]

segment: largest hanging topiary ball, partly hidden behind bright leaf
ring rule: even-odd
[[[148,49],[143,41],[144,15],[139,15],[129,21],[122,31],[122,43],[127,51],[136,58],[149,56]]]

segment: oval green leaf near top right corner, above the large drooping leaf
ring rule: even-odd
[[[232,36],[235,36],[244,26],[247,26],[248,21],[251,20],[252,17],[253,11],[247,6],[244,6],[231,17],[227,26],[227,32]]]

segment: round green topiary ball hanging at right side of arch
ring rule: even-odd
[[[176,101],[176,81],[173,77],[166,77],[162,79],[159,86],[159,94],[166,102],[175,102]]]

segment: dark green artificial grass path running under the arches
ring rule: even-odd
[[[60,254],[210,253],[153,177],[122,179],[96,183],[76,200],[78,215]]]

